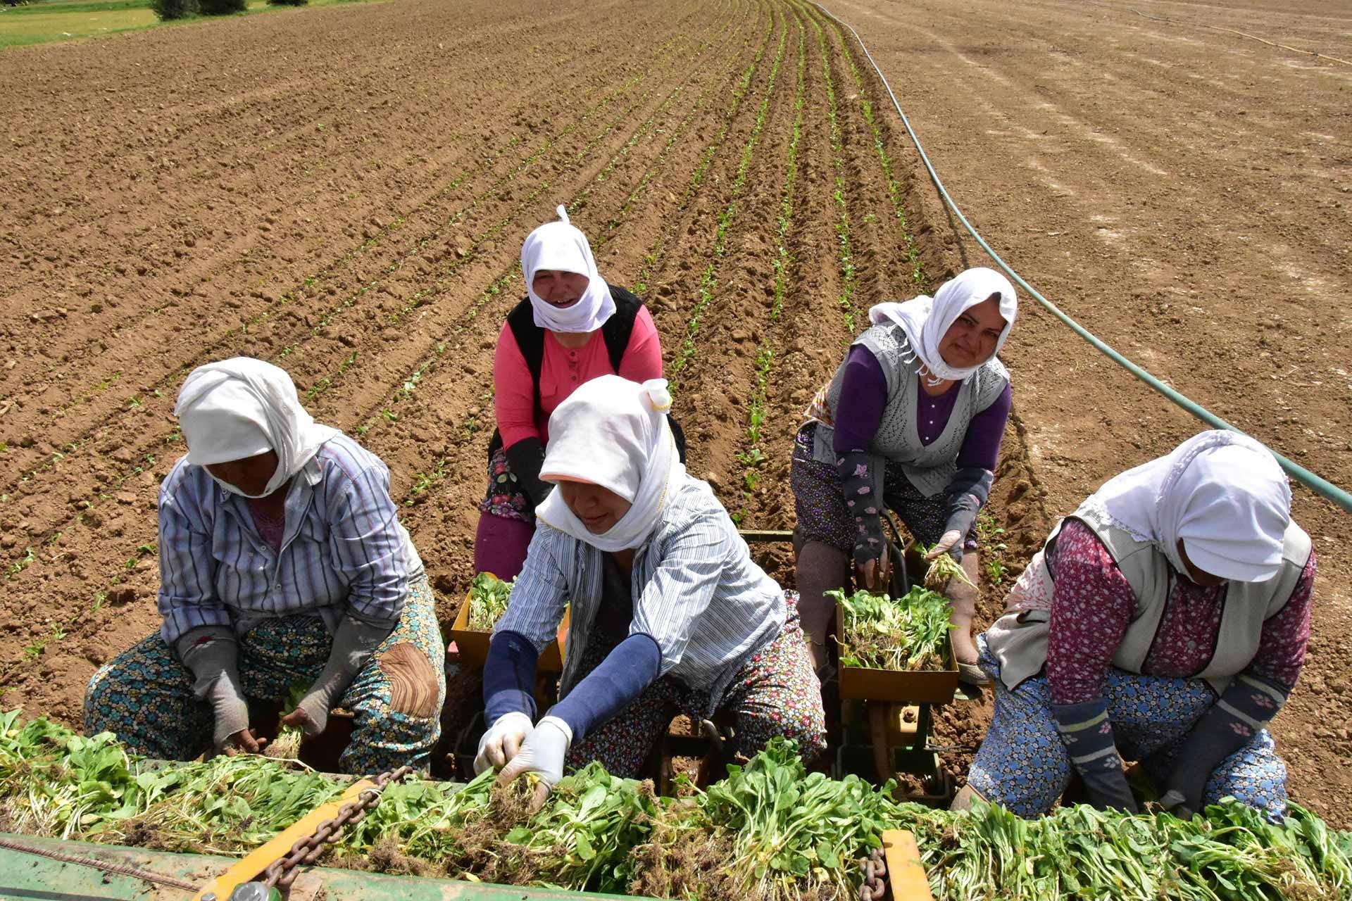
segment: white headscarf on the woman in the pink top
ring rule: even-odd
[[[577,273],[591,281],[571,307],[558,308],[535,293],[535,273],[542,269]],[[526,294],[535,315],[535,324],[550,331],[589,332],[602,327],[615,312],[610,286],[596,272],[587,235],[568,222],[568,211],[558,208],[558,222],[546,222],[526,235],[521,246],[521,272],[526,277]]]

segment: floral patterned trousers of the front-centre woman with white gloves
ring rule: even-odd
[[[810,759],[826,747],[822,686],[813,671],[803,631],[798,625],[796,593],[786,592],[788,621],[779,636],[753,654],[737,671],[719,701],[719,712],[733,713],[733,751],[750,756],[771,738],[798,742]],[[600,665],[611,648],[588,651],[587,671]],[[589,732],[568,752],[569,771],[600,761],[614,775],[637,777],[644,761],[667,732],[672,719],[685,712],[696,725],[708,709],[708,694],[694,692],[671,677],[648,686],[633,704]]]

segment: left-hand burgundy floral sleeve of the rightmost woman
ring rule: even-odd
[[[1136,593],[1094,532],[1068,519],[1056,538],[1046,681],[1055,704],[1103,696],[1103,679],[1136,609]]]

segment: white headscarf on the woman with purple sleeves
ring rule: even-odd
[[[999,294],[1000,316],[1005,317],[1005,328],[995,342],[991,357],[1000,353],[1005,339],[1014,328],[1014,315],[1018,312],[1018,297],[1014,294],[1014,285],[1010,280],[984,266],[976,266],[959,273],[953,278],[940,285],[933,297],[921,294],[906,303],[877,304],[868,311],[868,320],[875,326],[883,320],[891,320],[906,330],[906,336],[911,342],[911,350],[921,358],[932,385],[941,381],[963,381],[982,365],[956,369],[944,362],[938,353],[938,344],[944,340],[945,332],[963,311],[984,303],[991,294]]]

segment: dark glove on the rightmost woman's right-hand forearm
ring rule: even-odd
[[[1267,727],[1288,693],[1290,689],[1251,673],[1236,677],[1225,694],[1192,724],[1164,779],[1160,804],[1182,820],[1201,812],[1202,793],[1211,773]]]

